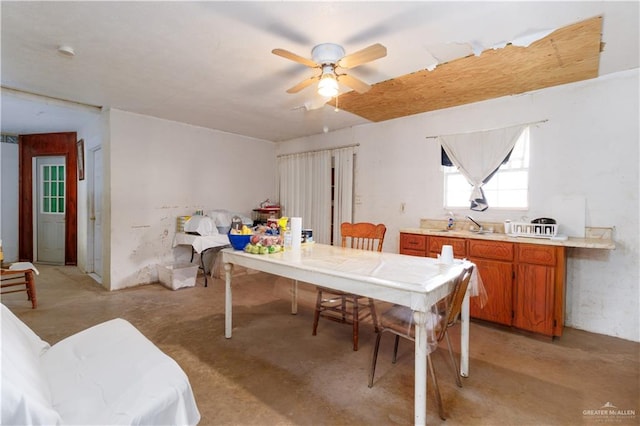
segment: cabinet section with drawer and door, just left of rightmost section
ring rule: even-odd
[[[513,318],[513,243],[468,240],[469,260],[475,263],[487,291],[487,301],[470,301],[472,318],[511,325]]]

